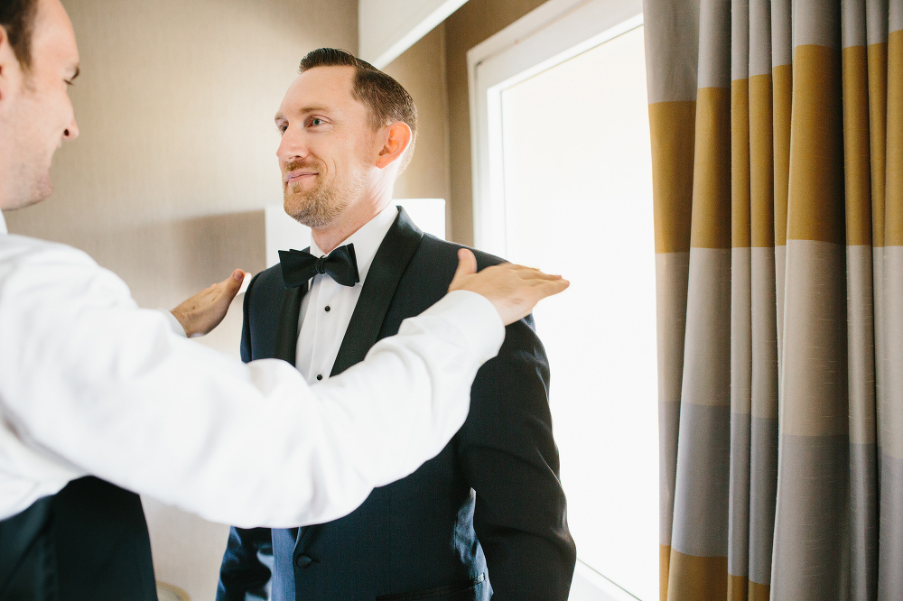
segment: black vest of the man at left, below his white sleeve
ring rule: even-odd
[[[157,601],[141,499],[93,476],[0,521],[0,601]]]

